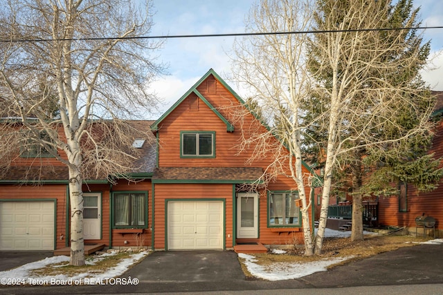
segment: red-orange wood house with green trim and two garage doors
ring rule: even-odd
[[[242,136],[266,127],[214,70],[159,120],[131,124],[151,129],[152,138],[134,142],[142,150],[140,169],[129,174],[134,181],[84,181],[85,245],[191,250],[302,244],[296,184],[285,175],[262,181],[270,151],[245,164],[253,146],[239,151]],[[51,158],[23,158],[1,174],[0,251],[69,246],[67,179],[66,168]]]

